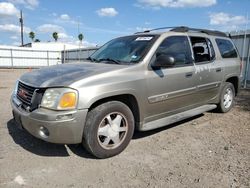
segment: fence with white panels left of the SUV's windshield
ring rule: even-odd
[[[98,48],[65,51],[44,51],[28,48],[0,47],[0,68],[39,68],[74,61],[83,61]]]

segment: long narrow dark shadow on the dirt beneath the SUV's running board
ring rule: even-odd
[[[182,120],[182,121],[179,121],[179,122],[176,122],[176,123],[172,123],[170,125],[167,125],[167,126],[164,126],[164,127],[161,127],[161,128],[157,128],[157,129],[153,129],[153,130],[150,130],[150,131],[143,131],[143,132],[142,131],[135,131],[132,139],[140,139],[140,138],[144,138],[144,137],[147,137],[147,136],[151,136],[151,135],[157,134],[159,132],[162,132],[162,131],[174,128],[176,126],[179,126],[179,125],[181,125],[183,123],[191,122],[191,121],[193,121],[195,119],[198,119],[198,118],[200,118],[202,116],[204,116],[204,114],[199,114],[199,115],[190,117],[188,119],[185,119],[185,120]]]

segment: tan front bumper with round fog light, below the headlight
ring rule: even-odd
[[[71,111],[53,111],[38,108],[26,112],[11,98],[13,116],[17,124],[33,136],[52,143],[77,144],[82,142],[83,127],[87,109]]]

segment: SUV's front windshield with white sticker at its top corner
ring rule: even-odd
[[[155,41],[155,35],[134,35],[113,39],[103,45],[89,60],[115,64],[139,62]]]

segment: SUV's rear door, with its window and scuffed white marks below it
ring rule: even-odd
[[[219,93],[223,79],[223,64],[216,60],[212,42],[205,37],[190,37],[194,55],[197,84],[196,103],[204,104],[213,100]]]

